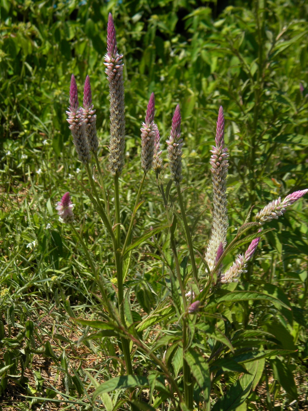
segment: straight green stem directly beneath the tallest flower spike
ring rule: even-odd
[[[118,308],[120,312],[120,318],[125,326],[125,315],[124,315],[124,291],[123,291],[123,265],[121,259],[121,251],[120,251],[120,236],[121,236],[121,227],[120,227],[120,194],[119,194],[119,177],[116,175],[114,178],[114,188],[115,188],[115,247],[114,247],[114,254],[115,254],[115,267],[117,270],[117,301],[118,301]],[[126,338],[121,338],[122,342],[122,351],[124,354],[125,364],[126,364],[126,372],[127,374],[133,374],[133,366],[131,364],[131,354],[129,350],[129,341]]]

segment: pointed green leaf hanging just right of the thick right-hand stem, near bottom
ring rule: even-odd
[[[211,392],[211,378],[209,374],[209,365],[201,353],[190,348],[184,353],[184,358],[195,377],[198,386],[204,390],[205,401],[209,398]]]

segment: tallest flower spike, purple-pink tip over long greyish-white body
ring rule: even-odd
[[[119,176],[124,166],[125,150],[125,116],[124,116],[124,82],[123,54],[117,51],[115,25],[111,13],[107,26],[107,53],[104,65],[109,81],[110,101],[110,142],[109,169],[113,176]]]

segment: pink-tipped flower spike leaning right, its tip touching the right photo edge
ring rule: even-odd
[[[260,225],[262,225],[267,221],[271,221],[272,219],[278,219],[278,217],[283,215],[285,209],[289,205],[293,204],[306,193],[308,193],[308,189],[294,191],[294,193],[286,196],[283,201],[281,201],[281,197],[279,197],[277,200],[271,201],[261,211],[257,213],[257,215],[255,216],[256,221]]]

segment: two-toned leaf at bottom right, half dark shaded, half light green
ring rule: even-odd
[[[241,404],[244,403],[245,399],[250,394],[251,388],[253,386],[253,381],[256,377],[256,372],[258,368],[258,360],[249,364],[247,371],[250,374],[244,374],[239,380],[234,383],[234,385],[220,397],[212,411],[235,411]]]

